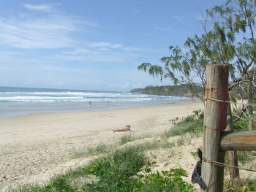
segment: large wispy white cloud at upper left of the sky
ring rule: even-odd
[[[75,33],[97,26],[84,18],[60,13],[40,18],[30,14],[0,15],[0,44],[26,49],[74,47],[77,44]]]

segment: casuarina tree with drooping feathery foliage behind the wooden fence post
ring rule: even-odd
[[[174,85],[186,85],[195,96],[203,99],[195,80],[199,78],[200,84],[205,85],[206,64],[228,64],[230,93],[234,87],[247,83],[249,104],[252,104],[255,76],[249,72],[255,69],[256,61],[255,16],[255,0],[227,0],[221,6],[206,10],[203,34],[187,38],[186,49],[170,46],[170,55],[161,58],[162,65],[143,63],[138,69],[161,80],[168,78]],[[249,110],[249,117],[253,118],[252,110]],[[253,120],[249,122],[252,129]],[[237,176],[238,170],[231,175]]]

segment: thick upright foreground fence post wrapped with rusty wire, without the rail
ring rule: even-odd
[[[206,105],[203,122],[203,158],[223,163],[225,152],[220,150],[221,132],[227,124],[227,103],[212,101],[228,99],[228,65],[206,66]],[[208,192],[223,191],[223,167],[203,161],[202,178]]]

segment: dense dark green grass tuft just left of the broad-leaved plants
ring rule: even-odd
[[[98,182],[88,185],[87,191],[132,191],[137,183],[132,176],[145,163],[143,150],[138,147],[117,150],[113,155],[100,158],[87,168],[89,174],[99,178]]]

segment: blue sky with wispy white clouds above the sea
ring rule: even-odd
[[[223,0],[1,0],[0,86],[129,91],[170,80],[139,72],[203,33]]]

